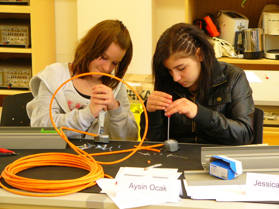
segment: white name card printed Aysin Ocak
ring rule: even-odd
[[[181,181],[146,176],[117,178],[116,198],[156,199],[178,203]]]

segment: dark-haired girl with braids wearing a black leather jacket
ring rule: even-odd
[[[159,38],[152,62],[154,91],[145,102],[149,141],[246,145],[254,137],[254,102],[244,71],[218,62],[209,37],[178,23]],[[145,117],[141,115],[141,137]]]

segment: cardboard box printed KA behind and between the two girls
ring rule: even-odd
[[[125,74],[124,81],[136,90],[143,101],[148,98],[148,95],[151,94],[154,89],[152,85],[152,75]],[[136,94],[128,86],[126,86],[126,91],[131,104],[140,103]]]

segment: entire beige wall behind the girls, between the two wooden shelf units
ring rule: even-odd
[[[184,0],[55,0],[56,60],[72,62],[75,44],[102,20],[119,19],[133,42],[128,73],[151,74],[156,42],[165,29],[185,20]]]

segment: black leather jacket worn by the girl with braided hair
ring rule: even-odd
[[[245,72],[228,63],[216,62],[213,86],[207,99],[196,96],[198,113],[193,119],[175,113],[170,117],[169,138],[179,143],[247,145],[254,138],[254,101]],[[184,87],[175,89],[173,101],[187,98]],[[187,98],[191,100],[190,98]],[[146,101],[145,101],[146,104]],[[168,118],[165,111],[148,112],[146,140],[167,140]],[[145,131],[145,115],[141,114],[140,135]]]

